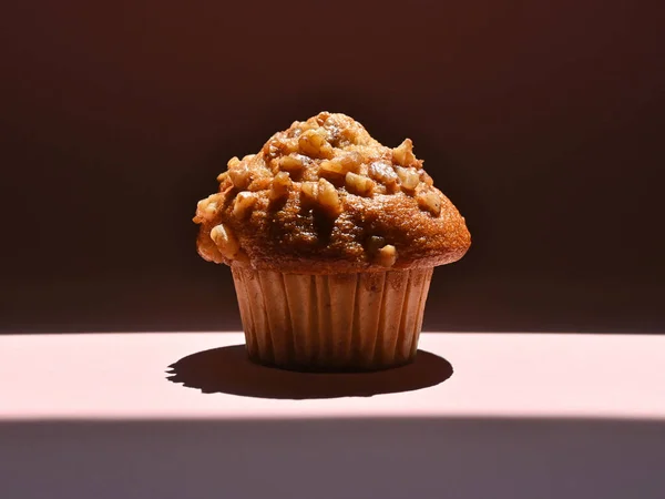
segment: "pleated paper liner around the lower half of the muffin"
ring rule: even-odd
[[[334,275],[233,266],[252,359],[298,370],[376,370],[416,356],[433,268]]]

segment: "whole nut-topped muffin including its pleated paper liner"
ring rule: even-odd
[[[376,370],[416,356],[433,267],[471,244],[405,140],[321,112],[232,157],[198,202],[198,253],[231,266],[252,359]]]

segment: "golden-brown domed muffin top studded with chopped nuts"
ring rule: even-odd
[[[461,258],[464,218],[409,139],[391,149],[345,114],[321,112],[232,157],[198,202],[205,259],[285,273],[432,267]]]

